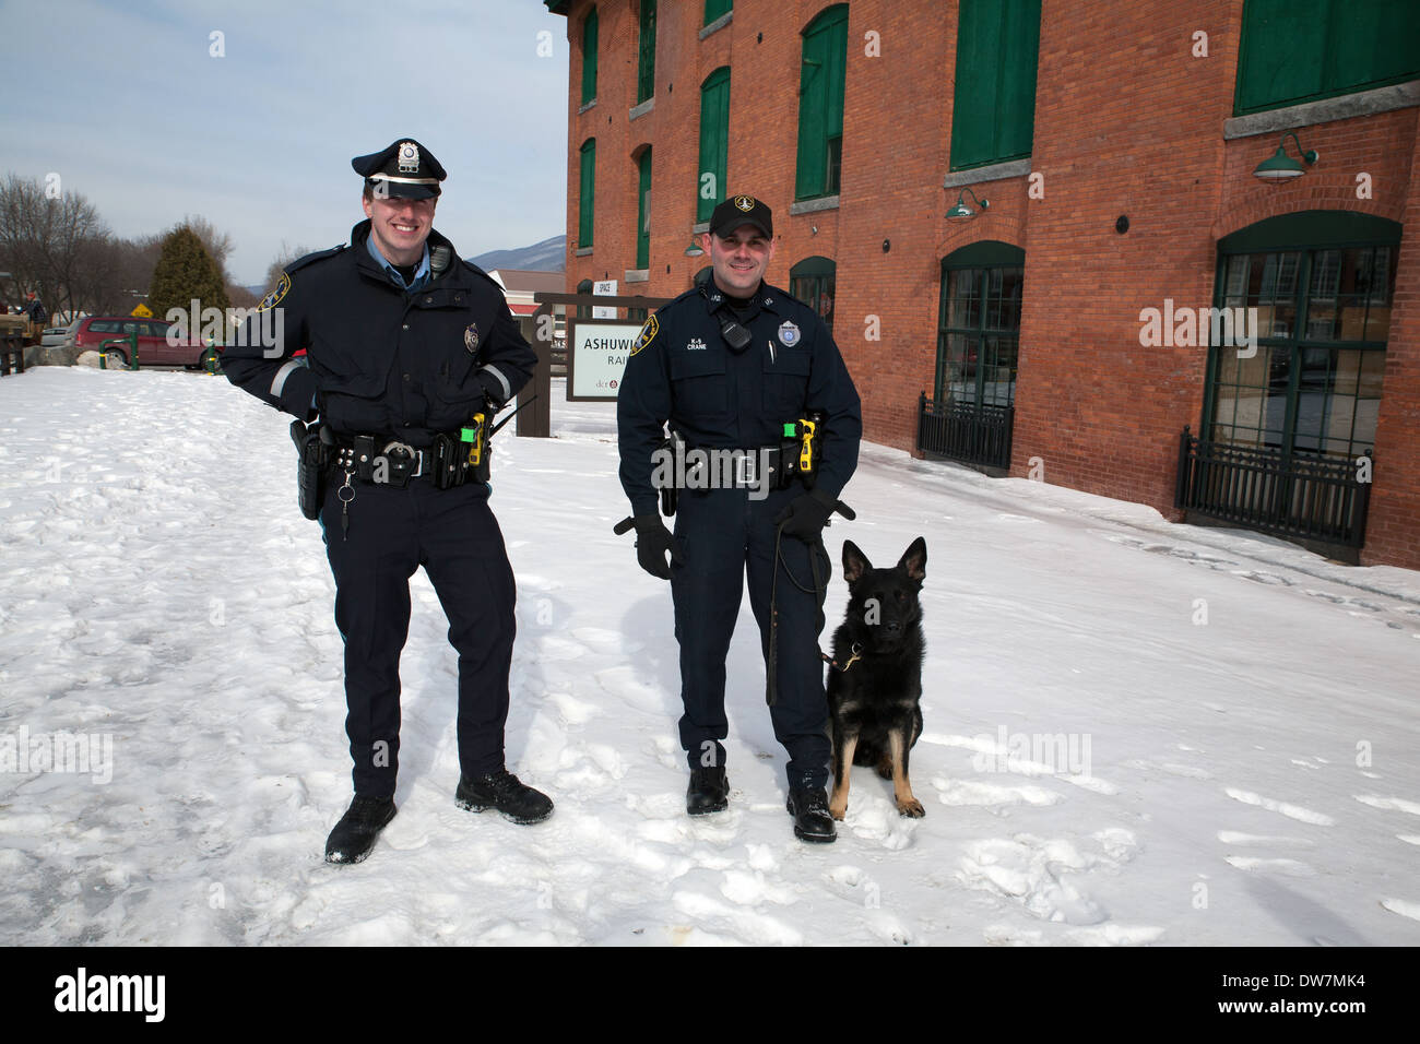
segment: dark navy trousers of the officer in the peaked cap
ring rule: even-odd
[[[342,538],[338,482],[321,511],[335,574],[335,625],[345,639],[345,732],[355,794],[389,797],[399,771],[399,653],[409,635],[409,578],[420,565],[459,652],[459,766],[503,767],[517,591],[488,487],[436,490],[354,483]]]

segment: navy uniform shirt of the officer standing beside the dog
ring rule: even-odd
[[[736,352],[721,311],[750,334]],[[655,514],[652,453],[670,425],[689,446],[757,449],[782,440],[784,422],[826,415],[816,489],[835,499],[858,466],[863,433],[858,389],[818,314],[761,283],[747,312],[731,310],[710,277],[663,305],[632,347],[616,396],[621,482],[633,514]]]

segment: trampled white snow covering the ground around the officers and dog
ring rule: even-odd
[[[826,535],[835,571],[843,538],[875,564],[927,538],[927,815],[858,768],[809,847],[747,601],[730,811],[686,817],[669,588],[611,533],[615,408],[554,392],[555,439],[498,436],[493,504],[508,763],[557,812],[454,807],[420,574],[400,811],[346,868],[334,585],[283,418],[204,375],[0,381],[0,943],[1420,942],[1420,575],[865,446]],[[835,575],[829,626],[845,602]]]

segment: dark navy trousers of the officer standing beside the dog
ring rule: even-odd
[[[680,642],[680,744],[692,768],[724,764],[728,734],[724,714],[724,658],[740,614],[744,581],[760,625],[768,665],[770,595],[775,574],[774,516],[804,490],[795,484],[750,500],[747,490],[682,491],[676,507],[676,543],[684,562],[672,568],[670,594]],[[778,564],[778,697],[768,709],[774,737],[790,754],[790,785],[822,787],[828,781],[828,700],[818,635],[824,629],[809,554],[816,553],[826,584],[828,555],[822,544],[784,537]],[[807,588],[807,589],[801,589]],[[737,699],[761,702],[763,679],[737,680]],[[713,760],[711,760],[713,758]]]

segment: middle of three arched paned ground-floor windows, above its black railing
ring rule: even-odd
[[[1015,403],[1024,283],[1025,251],[1010,243],[971,243],[941,261],[936,403]]]

